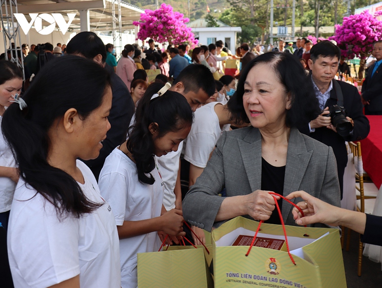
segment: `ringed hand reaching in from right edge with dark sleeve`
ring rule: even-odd
[[[297,208],[294,207],[292,210],[293,218],[298,225],[323,223],[330,226],[339,226],[341,208],[323,202],[305,191],[295,191],[286,198],[291,200],[297,197],[304,200],[297,203],[297,206],[304,212],[304,217],[302,217]]]

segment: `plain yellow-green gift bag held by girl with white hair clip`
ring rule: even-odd
[[[139,253],[138,287],[213,288],[206,249],[196,247],[170,246],[167,251]]]

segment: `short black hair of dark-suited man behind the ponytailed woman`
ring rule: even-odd
[[[81,54],[85,58],[93,59],[98,54],[102,56],[102,62],[106,61],[106,49],[101,38],[94,32],[83,31],[76,34],[66,46],[67,54]]]

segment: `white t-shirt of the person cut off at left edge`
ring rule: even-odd
[[[0,116],[1,126],[2,116]],[[0,129],[0,166],[16,167],[15,158],[9,146],[6,144],[2,131]],[[0,213],[11,209],[13,193],[15,192],[16,183],[8,177],[0,177]]]

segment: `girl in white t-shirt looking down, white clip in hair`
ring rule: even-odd
[[[162,239],[170,234],[176,242],[174,236],[185,234],[181,210],[166,211],[162,204],[154,155],[177,150],[190,132],[193,112],[184,96],[167,89],[160,83],[148,86],[128,140],[106,158],[99,177],[101,195],[117,223],[122,288],[137,287],[137,253],[158,251],[158,231]]]

